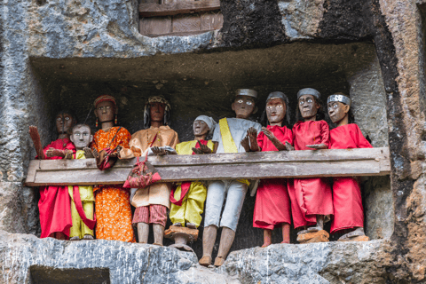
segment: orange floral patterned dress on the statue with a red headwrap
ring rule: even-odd
[[[108,131],[96,132],[92,147],[100,151],[107,146],[114,149],[116,146],[129,148],[130,133],[122,128],[116,137],[119,127]],[[111,143],[111,140],[114,141]],[[109,145],[111,143],[111,145]],[[122,185],[97,185],[95,192],[95,212],[97,217],[96,238],[102,240],[116,240],[135,242],[131,226],[130,193]]]

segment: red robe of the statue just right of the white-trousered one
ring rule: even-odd
[[[268,125],[267,128],[282,143],[288,141],[293,144],[293,134],[286,126]],[[264,132],[260,132],[257,136],[257,143],[262,152],[278,151]],[[273,230],[283,223],[291,224],[287,178],[262,179],[256,193],[253,226]]]

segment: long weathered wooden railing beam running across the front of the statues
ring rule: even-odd
[[[122,184],[136,159],[99,171],[94,159],[30,162],[26,185]],[[390,174],[389,148],[150,156],[162,181]]]

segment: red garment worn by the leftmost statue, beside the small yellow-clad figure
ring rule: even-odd
[[[74,144],[67,138],[58,139],[43,148],[44,155],[49,148],[59,150],[72,150],[75,153]],[[46,160],[59,160],[62,157],[47,157]],[[68,186],[40,186],[40,201],[38,201],[40,211],[40,225],[42,235],[40,238],[47,238],[51,233],[62,232],[69,238],[69,229],[73,225],[71,218],[71,198],[68,193]]]

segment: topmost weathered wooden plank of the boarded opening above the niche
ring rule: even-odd
[[[169,4],[139,4],[139,14],[141,17],[172,16],[215,10],[220,10],[220,0],[174,2]]]

